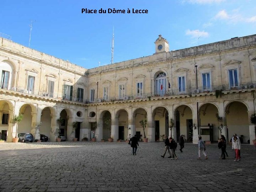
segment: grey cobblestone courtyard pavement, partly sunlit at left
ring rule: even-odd
[[[256,191],[256,149],[243,144],[241,161],[219,158],[217,143],[208,160],[185,143],[177,160],[162,158],[164,143],[0,143],[0,191]],[[179,147],[179,146],[178,146]]]

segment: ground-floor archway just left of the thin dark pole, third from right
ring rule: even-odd
[[[186,142],[193,141],[192,110],[187,105],[180,105],[175,109],[176,137],[184,135]]]

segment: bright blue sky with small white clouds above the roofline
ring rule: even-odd
[[[28,47],[33,20],[30,48],[87,69],[111,63],[113,27],[114,63],[152,55],[159,34],[177,50],[256,33],[255,0],[1,0],[0,10],[0,32],[12,41]]]

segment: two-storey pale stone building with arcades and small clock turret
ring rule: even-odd
[[[175,51],[159,35],[153,55],[93,69],[0,38],[0,71],[7,142],[16,129],[51,141],[59,134],[97,141],[136,134],[149,142],[183,134],[197,143],[198,135],[217,141],[219,129],[227,139],[255,139],[256,34]],[[21,123],[12,123],[19,114]]]

